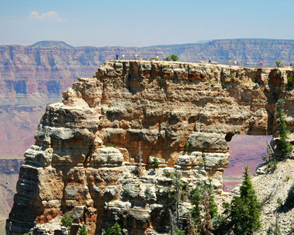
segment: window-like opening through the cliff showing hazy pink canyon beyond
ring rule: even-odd
[[[268,156],[266,139],[270,142],[271,138],[271,135],[235,134],[227,142],[230,147],[230,164],[222,176],[223,190],[228,192],[242,182],[245,165],[249,165],[250,175],[253,176],[256,167],[263,162],[262,156]]]

